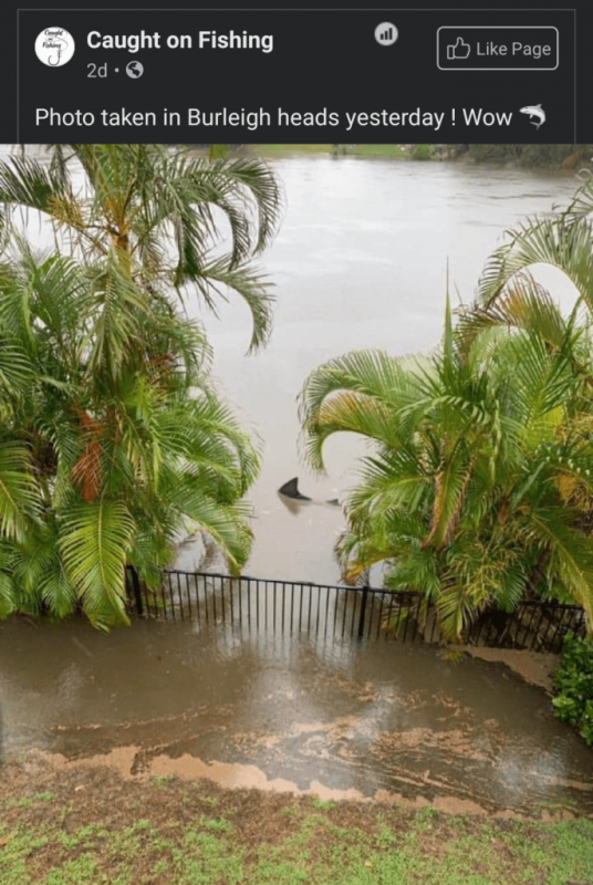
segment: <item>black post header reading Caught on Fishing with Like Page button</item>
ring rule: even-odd
[[[21,10],[2,140],[589,143],[575,28],[571,9]]]

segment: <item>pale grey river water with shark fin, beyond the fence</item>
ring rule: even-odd
[[[357,347],[427,353],[440,340],[447,261],[454,304],[471,301],[482,267],[506,230],[526,216],[564,207],[572,177],[447,163],[303,157],[273,162],[285,215],[261,264],[277,296],[269,345],[245,357],[250,321],[240,299],[220,321],[204,315],[215,372],[246,425],[263,441],[261,477],[250,491],[256,540],[246,574],[336,583],[333,548],[340,508],[355,483],[364,444],[347,435],[326,446],[327,475],[312,476],[299,444],[296,397],[319,365]],[[564,304],[573,290],[558,272],[539,274]],[[189,302],[189,310],[197,304]],[[300,477],[313,502],[278,496]],[[199,564],[191,546],[183,566]]]

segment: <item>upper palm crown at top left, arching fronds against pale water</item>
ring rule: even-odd
[[[119,358],[122,313],[171,289],[180,296],[193,289],[215,311],[217,295],[238,292],[253,320],[251,348],[264,344],[272,298],[250,260],[271,241],[281,198],[262,160],[209,160],[160,145],[58,145],[48,163],[27,155],[0,163],[0,205],[9,231],[15,208],[33,209],[52,221],[60,248],[104,262],[101,354]],[[221,221],[230,231],[223,253]]]

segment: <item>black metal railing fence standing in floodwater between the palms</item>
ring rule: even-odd
[[[126,572],[131,608],[148,617],[306,634],[322,639],[440,642],[434,606],[422,593],[373,587],[165,571],[157,591]],[[468,645],[560,652],[566,633],[584,634],[578,605],[531,601],[512,613],[486,612],[466,632]]]

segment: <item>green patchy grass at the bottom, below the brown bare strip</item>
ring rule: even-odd
[[[155,802],[162,787],[154,784]],[[565,885],[593,882],[593,822],[455,818],[433,808],[361,806],[358,825],[343,825],[341,803],[282,799],[249,824],[249,811],[216,805],[189,785],[195,814],[152,821],[152,805],[133,823],[122,813],[64,832],[56,815],[33,819],[35,803],[0,815],[2,885]],[[39,802],[49,801],[44,794]],[[31,796],[33,799],[33,796]],[[52,801],[52,804],[56,800]],[[232,800],[231,800],[232,801]],[[263,800],[262,800],[263,801]],[[269,801],[269,800],[266,800]],[[0,811],[8,802],[0,800]],[[227,802],[228,805],[228,802]],[[181,808],[179,802],[178,808]],[[268,811],[271,816],[268,816]],[[290,812],[290,813],[289,813]],[[131,811],[131,813],[134,813]],[[352,811],[350,812],[352,814]],[[354,810],[354,819],[356,818]],[[216,815],[216,816],[209,816]],[[274,819],[275,815],[275,819]],[[232,820],[229,820],[229,816]],[[353,820],[354,820],[353,819]],[[278,830],[274,831],[274,820]],[[346,815],[346,820],[350,820]],[[262,823],[263,825],[263,823]]]

